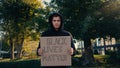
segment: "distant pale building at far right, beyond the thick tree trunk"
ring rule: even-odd
[[[97,51],[98,54],[105,55],[107,50],[116,50],[116,40],[115,38],[106,37],[106,39],[103,38],[96,38],[94,44],[93,44],[93,52]]]

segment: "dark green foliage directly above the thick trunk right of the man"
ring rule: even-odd
[[[65,29],[70,31],[74,38],[83,39],[85,34],[91,36],[94,30],[91,29],[92,16],[95,9],[100,7],[100,0],[52,0],[51,5],[53,6],[53,4],[57,5],[54,6],[57,8],[54,11],[60,12],[64,17]]]

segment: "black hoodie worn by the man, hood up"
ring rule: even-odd
[[[52,25],[52,19],[53,17],[59,16],[61,19],[61,25],[60,28],[58,29],[58,31],[55,30],[55,28]],[[72,41],[72,35],[70,32],[63,30],[63,19],[62,16],[59,13],[53,13],[50,15],[49,17],[49,23],[51,28],[45,32],[42,33],[41,37],[51,37],[51,36],[71,36],[71,47],[74,49],[74,54],[75,54],[75,46],[74,43]],[[40,48],[40,43],[38,45],[37,48],[37,55],[38,55],[38,49]],[[57,67],[58,68],[58,67]]]

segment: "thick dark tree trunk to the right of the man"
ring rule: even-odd
[[[82,55],[83,65],[94,64],[93,47],[90,38],[84,38],[85,52]]]

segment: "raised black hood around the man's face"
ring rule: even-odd
[[[62,18],[61,14],[59,14],[59,13],[52,13],[49,16],[49,23],[50,23],[51,29],[55,30],[55,28],[53,27],[53,24],[52,24],[52,19],[53,19],[53,17],[58,17],[58,16],[60,17],[60,20],[61,20],[61,25],[60,25],[60,28],[58,29],[58,31],[61,31],[63,29],[63,18]]]

